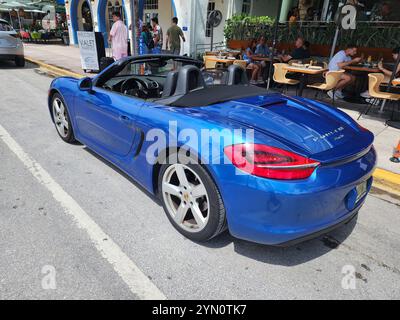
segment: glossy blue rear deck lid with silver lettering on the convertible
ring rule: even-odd
[[[268,135],[295,152],[320,162],[351,157],[373,142],[340,110],[303,98],[265,95],[200,108],[212,119],[225,119]]]

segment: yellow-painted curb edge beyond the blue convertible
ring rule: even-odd
[[[73,77],[83,78],[84,75],[56,67],[42,61],[25,57],[25,60],[38,65],[39,67],[48,70],[51,74],[57,77]],[[384,192],[400,196],[400,174],[391,171],[377,168],[374,172],[373,187]]]

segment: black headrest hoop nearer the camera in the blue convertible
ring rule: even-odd
[[[188,65],[179,70],[178,83],[174,95],[185,95],[191,91],[205,88],[206,83],[199,68]]]

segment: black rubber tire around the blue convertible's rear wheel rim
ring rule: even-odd
[[[179,161],[178,161],[179,162]],[[167,161],[167,163],[171,163],[170,161]],[[163,176],[166,172],[166,170],[171,166],[171,164],[163,164],[160,168],[160,173],[158,175],[158,197],[163,205],[164,211],[171,222],[171,224],[174,226],[174,228],[184,235],[186,238],[196,241],[196,242],[206,242],[216,236],[218,236],[220,233],[222,233],[224,230],[226,230],[226,213],[225,213],[225,206],[221,198],[221,194],[214,183],[213,179],[211,178],[210,174],[207,172],[207,170],[200,164],[187,164],[186,166],[189,167],[191,170],[193,170],[201,179],[203,182],[207,194],[209,197],[209,207],[210,210],[208,212],[209,218],[206,226],[204,229],[198,232],[188,232],[181,228],[179,224],[176,223],[176,221],[173,219],[171,214],[168,212],[167,205],[164,201],[164,197],[162,194],[162,180]]]

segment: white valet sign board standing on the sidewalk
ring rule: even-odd
[[[83,70],[100,70],[94,32],[78,31],[78,43]]]

